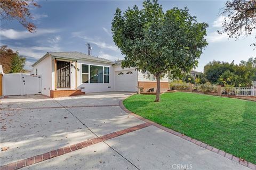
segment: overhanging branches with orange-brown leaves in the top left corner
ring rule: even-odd
[[[2,24],[4,20],[17,20],[29,32],[34,32],[36,29],[35,24],[27,20],[32,18],[29,11],[30,6],[39,7],[34,0],[1,0],[0,14]]]

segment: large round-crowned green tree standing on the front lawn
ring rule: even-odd
[[[143,2],[124,13],[117,8],[112,22],[113,39],[125,59],[122,67],[135,67],[154,74],[159,101],[160,79],[165,74],[179,75],[197,65],[207,45],[206,23],[198,23],[188,8],[163,12],[157,0]]]

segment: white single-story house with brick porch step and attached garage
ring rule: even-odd
[[[90,92],[143,91],[154,88],[153,75],[135,68],[121,67],[121,61],[78,52],[48,52],[33,65],[31,74],[40,75],[42,94],[50,97],[81,95]],[[168,78],[161,80],[162,91],[169,89]]]

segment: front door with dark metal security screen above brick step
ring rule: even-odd
[[[57,61],[57,88],[70,88],[70,62]]]

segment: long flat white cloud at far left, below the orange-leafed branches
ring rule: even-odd
[[[5,39],[26,39],[31,37],[37,37],[42,35],[47,35],[50,33],[58,32],[57,29],[36,29],[35,33],[30,33],[29,31],[18,31],[13,29],[1,30],[0,36]]]

